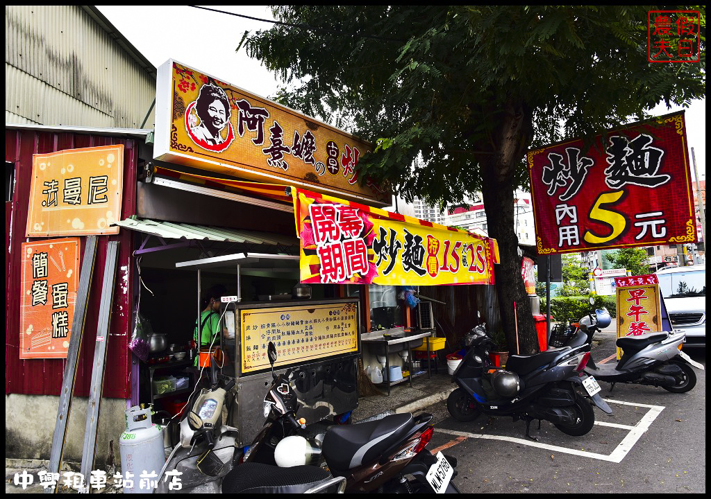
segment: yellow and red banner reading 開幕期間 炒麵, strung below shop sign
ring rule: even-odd
[[[302,283],[494,283],[494,239],[315,192],[292,194]]]

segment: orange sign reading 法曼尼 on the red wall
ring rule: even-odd
[[[25,235],[118,234],[123,175],[122,144],[33,155]]]

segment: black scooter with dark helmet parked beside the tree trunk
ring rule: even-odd
[[[492,339],[483,325],[466,336],[470,349],[452,375],[459,385],[447,399],[449,413],[459,421],[474,421],[481,414],[511,416],[526,422],[530,436],[533,420],[546,420],[565,434],[587,434],[595,422],[588,397],[607,414],[612,410],[598,395],[600,387],[583,373],[589,346],[550,349],[535,355],[511,355],[506,370],[489,360]]]

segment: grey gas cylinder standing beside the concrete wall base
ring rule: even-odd
[[[138,405],[134,405],[124,411],[124,415],[126,429],[119,438],[124,494],[151,493],[166,462],[163,432],[151,421],[150,407],[141,409]],[[127,473],[131,473],[132,476],[128,476]],[[141,481],[141,474],[147,474],[151,478]]]

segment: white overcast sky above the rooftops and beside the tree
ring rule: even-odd
[[[109,21],[156,67],[172,58],[206,72],[223,82],[261,97],[272,97],[279,82],[259,61],[235,48],[245,31],[268,29],[272,23],[252,21],[188,6],[97,6]],[[207,6],[256,18],[274,19],[267,6]],[[664,104],[653,114],[667,114]],[[689,146],[696,155],[701,180],[705,180],[706,100],[686,111]],[[693,175],[693,168],[692,168]]]

